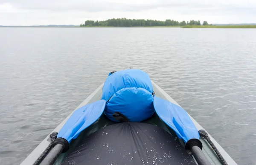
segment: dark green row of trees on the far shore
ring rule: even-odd
[[[80,26],[112,26],[112,27],[143,27],[143,26],[186,26],[186,25],[197,25],[201,26],[201,22],[190,20],[178,22],[175,20],[131,20],[126,18],[113,18],[104,21],[86,20],[84,24]],[[207,21],[203,22],[203,25],[209,25]]]

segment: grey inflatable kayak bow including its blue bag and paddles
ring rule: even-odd
[[[237,165],[143,71],[111,72],[20,165]]]

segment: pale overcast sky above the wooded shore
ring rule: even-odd
[[[110,18],[256,23],[256,0],[0,0],[0,25],[79,25]]]

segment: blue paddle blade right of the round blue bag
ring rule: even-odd
[[[199,139],[198,130],[183,108],[159,97],[154,97],[153,102],[160,119],[171,127],[185,143],[189,139]]]

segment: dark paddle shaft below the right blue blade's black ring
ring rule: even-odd
[[[204,155],[201,148],[194,145],[190,148],[190,151],[192,152],[192,155],[195,157],[196,162],[198,165],[211,165],[207,157]]]

